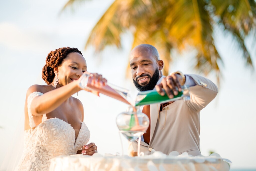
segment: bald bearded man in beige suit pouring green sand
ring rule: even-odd
[[[173,98],[181,91],[181,86],[190,87],[190,100],[144,105],[142,112],[149,117],[150,125],[143,135],[140,151],[144,154],[161,151],[168,155],[178,151],[180,154],[201,155],[200,111],[215,98],[217,86],[204,77],[184,75],[180,71],[163,76],[164,62],[152,45],[136,46],[130,53],[130,67],[134,85],[139,91],[156,89],[164,95],[164,89],[168,97]],[[130,155],[137,151],[137,146],[137,141],[130,144]]]

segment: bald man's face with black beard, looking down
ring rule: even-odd
[[[130,55],[130,67],[134,85],[139,91],[152,90],[159,80],[158,60],[147,48],[133,49]]]

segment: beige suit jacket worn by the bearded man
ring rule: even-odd
[[[196,86],[190,87],[190,100],[177,100],[165,106],[163,111],[159,112],[160,122],[158,111],[161,104],[150,105],[150,143],[148,145],[141,142],[140,146],[140,151],[144,154],[151,154],[154,149],[167,155],[172,151],[178,151],[180,154],[187,152],[193,156],[201,155],[200,111],[216,97],[218,88],[204,77],[195,74],[187,76],[196,83]],[[136,152],[137,146],[137,141],[130,143],[129,154]]]

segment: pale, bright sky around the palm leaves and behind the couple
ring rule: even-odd
[[[24,117],[27,89],[33,84],[45,85],[41,70],[47,54],[60,47],[76,47],[82,51],[89,72],[103,75],[108,82],[136,91],[132,77],[125,77],[133,37],[122,36],[122,48],[106,47],[95,54],[93,47],[84,49],[91,29],[113,0],[93,0],[76,4],[73,11],[60,14],[65,1],[0,1],[0,164],[9,152],[14,132]],[[230,35],[220,29],[214,32],[216,47],[223,59],[223,78],[217,97],[201,111],[200,149],[232,161],[231,168],[256,168],[256,75],[242,60],[242,53]],[[254,63],[256,51],[250,37],[246,42]],[[197,73],[191,67],[193,53],[174,54],[170,72]],[[255,66],[255,65],[254,65]],[[213,74],[207,76],[214,83]],[[74,95],[76,97],[76,95]],[[126,104],[104,95],[97,97],[80,91],[84,105],[84,122],[91,132],[90,142],[100,154],[127,154],[127,141],[120,135],[116,116]]]

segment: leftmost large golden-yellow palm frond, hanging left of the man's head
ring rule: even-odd
[[[143,1],[116,0],[92,29],[86,47],[92,44],[96,51],[107,45],[120,47],[120,35],[147,15],[148,6]]]

